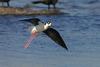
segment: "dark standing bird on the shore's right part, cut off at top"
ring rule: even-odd
[[[48,5],[48,9],[50,9],[50,5],[53,5],[54,9],[56,8],[56,3],[58,2],[58,0],[39,0],[39,1],[33,1],[33,4],[45,4]]]

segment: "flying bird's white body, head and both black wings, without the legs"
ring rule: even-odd
[[[59,34],[59,32],[57,30],[51,28],[51,22],[43,23],[38,18],[24,19],[21,21],[28,21],[28,22],[32,23],[32,25],[34,25],[34,27],[31,30],[31,33],[43,32],[48,37],[50,37],[54,42],[56,42],[58,45],[65,48],[66,50],[68,50],[68,48],[67,48],[64,40],[62,39],[61,35]]]

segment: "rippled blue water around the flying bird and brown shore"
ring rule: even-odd
[[[13,0],[11,6],[19,7],[19,2],[24,7],[27,0]],[[100,67],[99,3],[100,0],[61,0],[57,7],[65,12],[62,15],[0,16],[0,67]],[[30,36],[30,24],[18,20],[31,17],[51,20],[69,51],[43,33],[29,48],[23,48]]]

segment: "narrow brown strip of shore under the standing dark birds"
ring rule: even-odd
[[[12,8],[0,7],[0,15],[55,15],[59,14],[58,9],[31,9],[31,8]]]

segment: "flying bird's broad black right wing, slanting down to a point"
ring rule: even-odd
[[[48,28],[47,30],[43,31],[47,36],[49,36],[53,41],[55,41],[58,45],[62,46],[63,48],[67,49],[67,46],[60,36],[60,34],[53,28]]]

